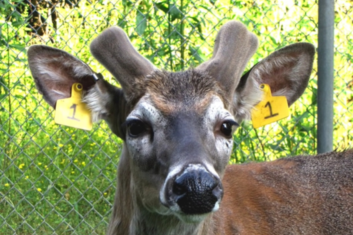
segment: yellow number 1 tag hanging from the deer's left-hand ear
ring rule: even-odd
[[[82,84],[74,83],[71,97],[56,101],[54,118],[56,124],[92,130],[91,113],[81,101],[82,88]]]

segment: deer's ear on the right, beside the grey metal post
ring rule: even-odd
[[[260,84],[268,84],[273,96],[285,96],[292,105],[308,85],[315,55],[310,43],[295,43],[273,52],[244,74],[233,96],[233,113],[240,120],[250,118],[261,101]]]

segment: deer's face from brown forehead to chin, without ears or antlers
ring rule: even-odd
[[[193,70],[152,73],[144,87],[123,124],[136,196],[161,214],[217,210],[237,126],[222,90]]]

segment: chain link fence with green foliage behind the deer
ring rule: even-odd
[[[294,42],[317,46],[317,0],[0,0],[0,234],[104,234],[122,141],[105,123],[92,131],[54,124],[36,91],[26,49],[46,44],[77,56],[106,80],[89,44],[109,26],[127,32],[157,67],[182,70],[207,60],[220,26],[239,20],[259,49],[248,69]],[[335,2],[334,146],[352,144],[353,1]],[[232,162],[316,152],[316,62],[291,118],[235,133]],[[116,84],[116,83],[115,83]]]

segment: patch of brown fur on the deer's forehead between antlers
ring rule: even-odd
[[[218,82],[192,69],[178,73],[156,71],[145,81],[145,87],[156,107],[168,115],[181,107],[202,113],[212,94],[221,97],[229,107],[229,101]]]

